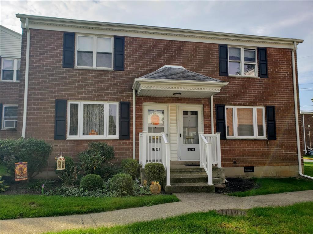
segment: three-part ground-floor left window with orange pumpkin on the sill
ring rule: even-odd
[[[69,101],[67,139],[118,139],[118,103]]]

